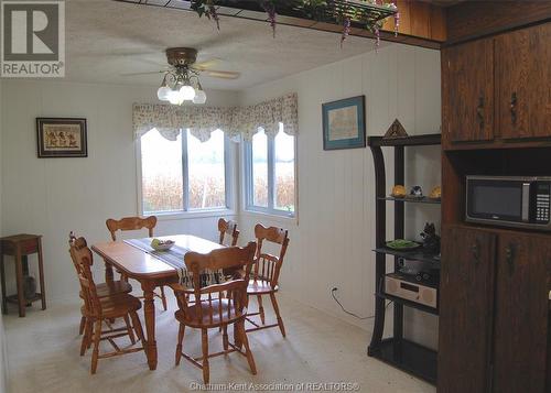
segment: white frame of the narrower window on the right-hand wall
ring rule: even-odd
[[[282,128],[280,131],[284,132]],[[244,141],[242,143],[242,154],[244,154],[244,210],[250,212],[260,212],[270,216],[284,217],[290,219],[296,219],[299,211],[298,204],[298,178],[296,178],[296,137],[294,138],[293,149],[294,149],[294,160],[293,160],[293,172],[294,172],[294,211],[289,212],[287,210],[281,210],[276,208],[276,137],[267,135],[268,140],[268,207],[255,205],[253,197],[253,181],[252,181],[252,140]]]

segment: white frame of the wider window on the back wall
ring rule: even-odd
[[[152,132],[151,129],[148,132]],[[144,211],[143,210],[143,177],[142,177],[142,156],[141,156],[141,138],[137,139],[136,142],[136,159],[137,159],[137,185],[138,185],[138,214],[139,215],[154,215],[160,219],[179,219],[179,218],[201,218],[201,217],[213,217],[225,215],[235,215],[235,190],[234,184],[231,182],[234,168],[234,149],[231,146],[231,141],[228,135],[224,133],[224,178],[225,178],[225,192],[226,192],[226,206],[224,207],[212,207],[205,209],[193,209],[190,208],[190,163],[187,154],[187,130],[181,129],[182,133],[182,209],[172,211]]]

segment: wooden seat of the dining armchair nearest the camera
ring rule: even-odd
[[[226,298],[222,299],[222,319],[220,319],[220,299],[213,299],[209,303],[201,302],[201,307],[203,310],[203,320],[197,320],[197,304],[195,303],[193,306],[187,308],[186,314],[179,309],[174,313],[176,319],[190,327],[217,327],[220,325],[233,324],[236,320],[244,318],[247,314],[247,309],[244,309],[244,314],[240,316],[236,316],[236,312],[234,308],[234,304],[229,305],[229,301]],[[228,317],[228,308],[231,307],[230,316]],[[213,315],[213,319],[210,319],[210,313]]]

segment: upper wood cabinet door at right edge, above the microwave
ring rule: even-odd
[[[496,105],[504,139],[551,137],[551,23],[496,39]]]

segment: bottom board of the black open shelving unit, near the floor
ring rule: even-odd
[[[436,383],[437,352],[419,343],[387,338],[368,354],[432,384]]]

